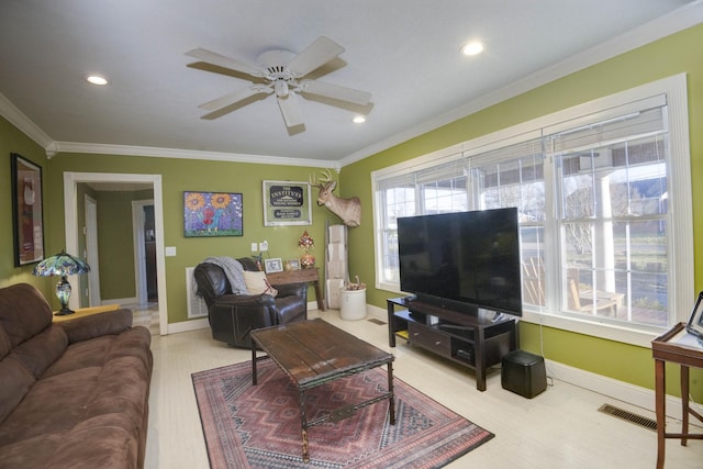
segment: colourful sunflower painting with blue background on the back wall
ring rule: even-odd
[[[243,236],[241,193],[183,192],[186,237]]]

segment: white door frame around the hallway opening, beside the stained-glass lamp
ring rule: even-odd
[[[64,172],[64,216],[66,250],[78,253],[78,187],[79,182],[141,182],[154,189],[154,231],[156,232],[156,279],[158,283],[158,317],[160,335],[168,334],[166,304],[166,258],[164,255],[164,196],[161,175],[133,175],[116,172]],[[69,300],[69,308],[78,309],[78,295]]]

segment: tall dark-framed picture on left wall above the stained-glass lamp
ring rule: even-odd
[[[14,265],[20,267],[44,259],[42,167],[15,153],[10,159]]]

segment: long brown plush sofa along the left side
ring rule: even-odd
[[[0,289],[0,468],[143,467],[150,339],[130,310],[52,323],[34,287]]]

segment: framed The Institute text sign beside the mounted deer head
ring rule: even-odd
[[[264,181],[264,226],[311,224],[309,182]]]

